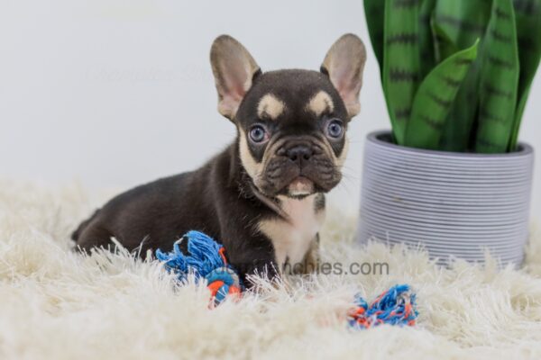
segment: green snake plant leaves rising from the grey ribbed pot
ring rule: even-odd
[[[364,8],[399,145],[517,148],[541,58],[541,0],[364,0]]]

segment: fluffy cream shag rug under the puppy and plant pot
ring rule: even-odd
[[[209,310],[204,285],[177,286],[157,262],[70,251],[70,231],[106,197],[0,182],[0,359],[541,358],[540,236],[521,269],[490,258],[443,269],[422,249],[354,245],[356,214],[328,211],[324,261],[386,263],[389,274],[260,281]],[[404,283],[417,326],[348,328],[355,293]]]

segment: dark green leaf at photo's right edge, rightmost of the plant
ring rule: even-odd
[[[514,0],[513,4],[517,23],[520,76],[518,78],[518,105],[509,142],[510,151],[517,148],[522,113],[541,58],[541,0]]]

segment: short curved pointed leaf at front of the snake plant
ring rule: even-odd
[[[446,58],[420,85],[404,145],[413,148],[439,148],[445,130],[445,119],[454,103],[464,76],[477,57],[479,41]]]

